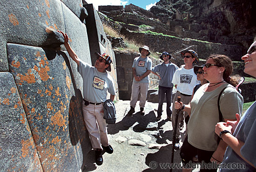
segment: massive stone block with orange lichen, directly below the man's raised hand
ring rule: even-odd
[[[16,44],[7,54],[43,171],[79,171],[91,145],[67,54]]]

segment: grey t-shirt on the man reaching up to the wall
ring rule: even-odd
[[[77,71],[83,79],[84,99],[101,103],[106,101],[108,93],[115,95],[114,81],[107,72],[101,73],[94,66],[83,61],[77,66]]]

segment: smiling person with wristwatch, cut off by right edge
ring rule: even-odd
[[[243,72],[256,77],[256,37],[254,41],[242,60],[245,64]],[[228,164],[243,165],[241,167],[244,168],[240,168],[239,172],[255,172],[256,102],[249,107],[241,119],[239,114],[236,114],[236,119],[236,121],[220,122],[216,125],[215,133],[229,145],[222,163],[225,166],[222,166],[221,172],[234,171],[230,168],[225,169]]]

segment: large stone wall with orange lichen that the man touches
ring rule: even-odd
[[[82,0],[0,1],[0,171],[78,172],[93,158],[82,78],[57,32],[67,33],[88,64],[95,51],[109,53],[116,80],[115,54],[88,6]]]

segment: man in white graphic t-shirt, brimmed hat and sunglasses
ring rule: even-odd
[[[195,85],[200,84],[197,80],[196,74],[194,73],[194,65],[199,62],[197,53],[194,50],[185,50],[181,52],[182,58],[184,60],[185,66],[182,66],[174,73],[172,83],[175,85],[177,92],[174,96],[174,101],[176,101],[177,97],[180,96],[182,102],[186,102],[189,104],[191,95],[193,93],[193,88]],[[185,104],[186,104],[185,103]],[[187,105],[186,104],[186,105]],[[176,118],[176,109],[174,108],[173,103],[173,114],[172,114],[172,126],[175,126],[175,118]],[[184,125],[184,115],[185,118],[189,115],[187,112],[180,111],[178,116],[178,123],[180,123],[180,127],[177,127],[176,135],[175,135],[175,149],[180,148],[179,141],[181,140],[181,133],[179,130],[183,129]],[[178,125],[178,124],[177,124]]]

